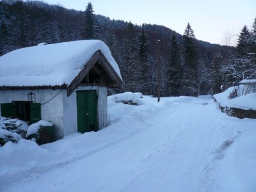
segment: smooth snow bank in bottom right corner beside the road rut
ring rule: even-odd
[[[244,126],[245,124],[241,124]],[[223,191],[256,191],[256,132],[247,129],[234,138],[234,143],[220,161],[216,175],[222,182]]]

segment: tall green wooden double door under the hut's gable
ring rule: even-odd
[[[77,131],[98,131],[96,90],[78,91],[77,94]]]

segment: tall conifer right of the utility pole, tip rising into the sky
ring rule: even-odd
[[[198,49],[196,44],[194,31],[188,23],[182,38],[183,84],[184,94],[194,97],[198,96]]]

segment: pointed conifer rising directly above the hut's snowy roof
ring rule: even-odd
[[[83,39],[99,39],[99,26],[94,15],[92,3],[89,2],[82,15],[82,33]]]

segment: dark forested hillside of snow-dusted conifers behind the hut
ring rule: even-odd
[[[252,30],[243,29],[246,37],[240,36],[237,45],[243,51],[237,54],[235,47],[196,40],[196,31],[189,24],[180,35],[164,26],[137,26],[94,15],[91,3],[79,12],[41,1],[1,1],[0,55],[41,42],[99,39],[111,49],[124,80],[120,89],[112,91],[156,95],[159,64],[161,96],[197,97],[220,92],[221,84],[255,77],[255,22]],[[234,66],[239,74],[234,75]]]

